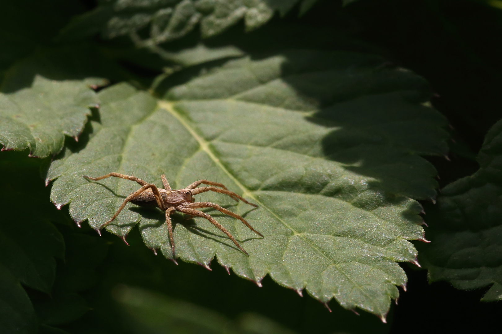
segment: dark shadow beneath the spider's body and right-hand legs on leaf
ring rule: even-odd
[[[158,208],[146,208],[146,207],[135,206],[135,207],[129,208],[129,210],[139,213],[143,218],[156,220],[156,222],[147,223],[147,224],[141,226],[140,231],[142,231],[148,227],[155,227],[155,228],[160,227],[160,226],[162,226],[162,224],[164,224],[166,222],[166,216],[165,216],[164,212],[162,212]],[[228,217],[225,214],[214,215],[214,216]],[[185,217],[182,213],[179,213],[179,212],[175,212],[175,213],[171,214],[171,221],[173,224],[173,230],[176,229],[176,226],[178,224],[180,224],[183,227],[185,227],[188,231],[190,231],[191,233],[194,233],[194,234],[199,235],[201,237],[204,237],[206,239],[211,239],[211,240],[216,241],[218,243],[221,243],[225,246],[231,247],[237,251],[240,251],[233,244],[233,242],[227,243],[227,242],[224,242],[223,240],[221,240],[221,239],[230,240],[230,238],[228,236],[226,236],[224,234],[223,235],[217,234],[217,233],[211,232],[207,229],[204,229],[204,228],[197,225],[197,223],[195,222],[195,219],[193,219],[193,218],[186,219]],[[167,235],[166,235],[166,237],[167,237]],[[245,241],[253,240],[253,239],[256,239],[256,238],[246,238],[246,239],[242,239],[242,240],[237,239],[237,241],[245,242]]]

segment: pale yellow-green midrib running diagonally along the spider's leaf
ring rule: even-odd
[[[319,247],[317,247],[317,245],[315,243],[311,242],[311,240],[309,240],[308,238],[306,238],[303,235],[303,233],[300,233],[300,232],[296,231],[287,222],[285,222],[283,219],[281,219],[272,209],[270,209],[268,206],[264,205],[257,197],[255,197],[255,195],[252,192],[250,192],[246,187],[244,187],[244,185],[242,183],[240,183],[235,178],[235,176],[233,176],[230,173],[230,171],[228,171],[225,168],[225,166],[223,166],[223,164],[221,163],[221,161],[214,155],[214,153],[209,148],[210,143],[208,141],[206,141],[204,138],[202,138],[201,136],[199,136],[199,134],[190,126],[190,124],[188,124],[187,120],[185,118],[183,118],[178,112],[176,112],[176,110],[173,107],[173,103],[172,102],[165,101],[165,100],[159,100],[157,104],[158,104],[158,106],[160,108],[162,108],[162,109],[166,110],[167,112],[169,112],[174,118],[176,118],[181,123],[181,125],[183,125],[183,127],[199,143],[200,149],[202,151],[204,151],[211,158],[211,160],[213,160],[213,162],[242,190],[242,192],[243,192],[242,195],[243,196],[248,196],[248,197],[252,198],[253,201],[255,201],[257,204],[259,204],[261,207],[263,207],[267,211],[269,211],[270,214],[272,214],[279,222],[281,222],[281,224],[283,224],[285,227],[287,227],[288,229],[290,229],[294,233],[294,235],[297,235],[305,243],[309,244],[313,249],[315,249],[319,254],[321,254],[326,260],[328,260],[334,267],[336,267],[336,269],[340,273],[342,273],[347,278],[347,280],[349,280],[350,282],[352,282],[353,286],[357,287],[361,291],[361,293],[366,296],[366,298],[368,300],[372,300],[371,296],[369,296],[366,293],[366,291],[364,291],[364,289],[359,286],[359,284],[357,284],[356,282],[354,282],[338,265],[336,265],[336,262],[333,259],[331,259],[331,257],[328,254],[326,254],[325,252],[323,252],[322,249],[320,249]],[[376,306],[376,305],[377,305],[377,303],[374,303],[374,306]],[[376,308],[381,313],[380,307],[376,306]]]

